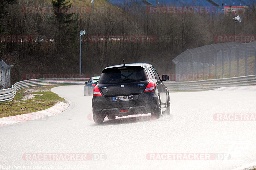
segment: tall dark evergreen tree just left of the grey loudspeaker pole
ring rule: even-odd
[[[73,13],[70,13],[72,4],[65,0],[51,0],[53,6],[53,22],[55,27],[54,42],[59,71],[67,70],[66,63],[77,63],[77,26]],[[57,62],[56,62],[57,61]],[[71,68],[70,68],[71,69]]]

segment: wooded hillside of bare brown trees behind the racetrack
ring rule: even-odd
[[[61,7],[67,5],[58,1]],[[151,63],[160,73],[175,73],[172,59],[177,55],[186,49],[216,43],[215,35],[235,32],[233,13],[149,13],[140,5],[132,4],[122,9],[105,0],[95,0],[94,13],[40,13],[19,9],[51,6],[50,0],[12,2],[16,3],[1,8],[4,12],[0,14],[0,35],[33,38],[24,43],[0,43],[1,59],[7,64],[15,64],[11,69],[12,84],[20,81],[24,74],[79,74],[80,30],[86,31],[81,36],[81,52],[82,73],[88,76],[98,75],[106,66],[120,64],[123,59],[125,63]],[[73,8],[85,6],[92,9],[91,0],[70,2]],[[239,35],[256,34],[254,8],[239,14],[243,18],[237,24]],[[91,41],[92,36],[137,38],[136,41],[100,38]],[[145,36],[154,38],[142,41]],[[235,74],[232,72],[231,76]]]

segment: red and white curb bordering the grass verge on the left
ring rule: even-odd
[[[57,102],[56,105],[42,111],[0,118],[0,126],[19,123],[19,122],[26,122],[30,120],[40,119],[47,116],[56,115],[63,112],[64,110],[67,110],[68,107],[69,107],[69,104],[59,101]]]

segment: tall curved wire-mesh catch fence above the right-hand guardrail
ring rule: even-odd
[[[256,42],[227,42],[187,49],[172,61],[176,75],[207,74],[210,78],[253,75],[256,74]]]

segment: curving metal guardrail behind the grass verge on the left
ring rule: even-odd
[[[16,92],[22,88],[37,85],[81,85],[88,81],[89,78],[40,78],[24,80],[15,83],[11,88],[0,90],[0,102],[12,100]]]

